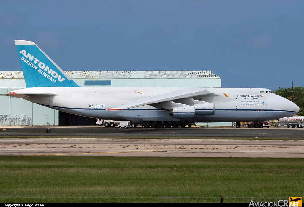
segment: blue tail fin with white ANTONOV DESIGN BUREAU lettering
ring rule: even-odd
[[[27,88],[79,87],[34,42],[15,40]]]

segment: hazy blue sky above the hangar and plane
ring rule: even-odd
[[[222,87],[303,86],[304,1],[2,1],[0,70],[14,39],[63,70],[212,70]]]

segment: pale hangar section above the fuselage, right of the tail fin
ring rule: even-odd
[[[184,71],[65,71],[79,86],[85,81],[111,81],[96,87],[221,87],[222,79],[210,70]],[[92,85],[88,85],[92,87]]]

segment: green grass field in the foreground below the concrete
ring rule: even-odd
[[[300,158],[0,156],[0,176],[0,202],[219,202],[221,195],[224,202],[250,202],[250,197],[304,197]]]

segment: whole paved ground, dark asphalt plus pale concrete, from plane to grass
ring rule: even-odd
[[[304,158],[303,132],[303,128],[2,126],[0,155]]]

